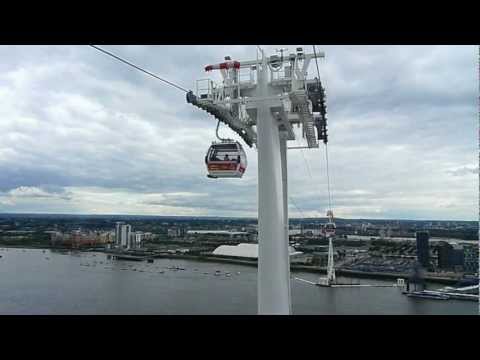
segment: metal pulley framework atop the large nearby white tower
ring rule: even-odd
[[[272,115],[280,131],[287,132],[287,140],[295,140],[292,126],[301,124],[308,147],[318,147],[317,140],[328,141],[326,94],[320,79],[307,79],[307,68],[314,55],[300,49],[288,56],[272,55],[266,59],[269,79],[265,97],[257,96],[257,68],[261,60],[237,62],[227,56],[225,62],[206,67],[207,71],[219,69],[223,84],[197,80],[196,94],[189,91],[187,102],[229,126],[250,147],[257,142],[257,103],[272,102]]]

